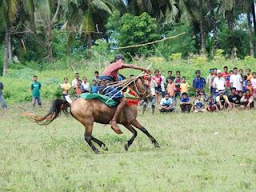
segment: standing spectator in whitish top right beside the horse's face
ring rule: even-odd
[[[152,109],[152,114],[154,115],[154,106],[155,106],[155,88],[158,87],[157,82],[154,81],[154,79],[152,79],[152,76],[149,75],[145,81],[145,85],[150,89],[151,98],[147,98],[147,101],[143,103],[143,109],[142,109],[142,116],[144,115],[147,106],[149,105],[149,102],[151,102],[151,109]]]

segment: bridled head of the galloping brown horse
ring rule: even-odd
[[[149,98],[151,93],[150,89],[145,86],[143,78],[137,78],[134,79],[134,83],[130,85],[130,88],[134,90],[136,94],[138,94],[138,97],[146,99]]]

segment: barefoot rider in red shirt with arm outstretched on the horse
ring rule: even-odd
[[[106,70],[102,73],[102,76],[99,77],[100,79],[100,91],[101,94],[107,94],[110,98],[114,98],[118,100],[119,104],[117,109],[114,112],[113,118],[110,120],[111,128],[114,130],[116,134],[122,134],[122,130],[120,130],[117,120],[118,116],[121,114],[122,109],[126,106],[127,99],[125,96],[120,92],[120,90],[114,88],[114,87],[108,87],[106,88],[106,81],[110,82],[117,82],[118,81],[118,70],[130,68],[134,70],[142,70],[145,71],[147,74],[152,74],[152,70],[144,69],[140,66],[135,65],[129,65],[125,64],[125,58],[118,54],[114,56],[114,61],[110,64],[110,66],[106,67]]]

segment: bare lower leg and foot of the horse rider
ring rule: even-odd
[[[114,130],[117,134],[122,134],[122,130],[120,130],[117,121],[118,121],[118,115],[121,114],[122,109],[126,106],[127,99],[126,98],[119,98],[119,105],[117,109],[114,112],[113,118],[110,120],[111,128]]]

